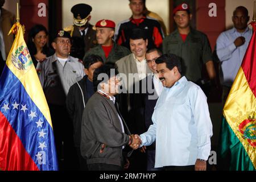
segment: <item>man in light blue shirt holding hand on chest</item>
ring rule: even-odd
[[[234,27],[222,32],[217,39],[216,51],[221,62],[220,81],[223,86],[223,102],[228,97],[253,34],[253,31],[247,27],[249,19],[248,10],[243,6],[238,6],[232,17]]]

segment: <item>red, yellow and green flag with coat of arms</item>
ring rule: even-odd
[[[230,170],[256,168],[256,23],[236,80],[226,100],[220,138],[220,157]]]

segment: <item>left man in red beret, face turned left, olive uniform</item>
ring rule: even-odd
[[[126,47],[119,46],[114,42],[115,23],[112,20],[99,20],[95,26],[97,43],[99,45],[86,52],[85,57],[88,55],[98,55],[102,57],[104,63],[115,63],[115,61],[131,53]]]

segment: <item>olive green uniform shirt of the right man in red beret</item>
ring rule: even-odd
[[[207,35],[192,28],[185,42],[178,30],[167,36],[163,40],[163,53],[174,53],[181,57],[182,73],[193,82],[201,80],[203,64],[212,60]]]

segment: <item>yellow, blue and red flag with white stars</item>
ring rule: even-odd
[[[0,168],[57,170],[49,108],[20,23],[10,32],[16,38],[0,78]]]

